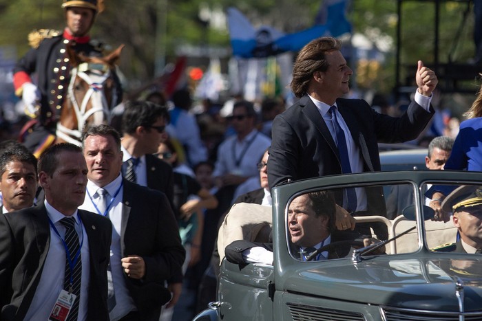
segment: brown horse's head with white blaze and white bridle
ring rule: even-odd
[[[107,56],[84,56],[67,46],[71,64],[71,78],[67,96],[56,124],[56,143],[70,142],[81,146],[85,128],[109,124],[112,109],[118,102],[114,63],[121,56],[124,45]]]

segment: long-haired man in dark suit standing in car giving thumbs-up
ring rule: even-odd
[[[300,98],[273,122],[268,177],[271,188],[286,181],[380,170],[378,142],[415,139],[434,113],[430,107],[437,76],[419,61],[415,100],[400,118],[382,115],[364,100],[344,99],[353,71],[336,38],[308,43],[297,56],[291,89]],[[380,191],[381,192],[381,191]],[[335,195],[354,215],[380,214],[379,192],[362,188]],[[379,207],[379,206],[378,206]],[[346,217],[342,228],[352,228]]]

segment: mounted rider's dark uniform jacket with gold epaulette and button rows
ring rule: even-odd
[[[67,98],[71,65],[66,46],[70,45],[78,54],[103,56],[103,45],[91,41],[90,36],[74,37],[67,29],[64,32],[40,30],[29,35],[30,49],[15,65],[13,72],[14,88],[17,96],[22,94],[22,85],[32,82],[41,91],[41,111],[35,124],[26,124],[20,140],[35,155],[40,155],[53,142],[56,122],[61,106]],[[122,100],[122,87],[114,72],[117,101]]]

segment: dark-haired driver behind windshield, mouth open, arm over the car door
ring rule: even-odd
[[[311,192],[293,199],[288,210],[288,228],[292,249],[297,258],[306,258],[317,249],[339,241],[360,241],[368,246],[378,242],[357,232],[338,231],[335,228],[335,199],[327,190]],[[353,250],[349,244],[331,247],[317,254],[313,260],[344,258]],[[377,254],[381,254],[381,249]],[[273,264],[273,243],[253,243],[239,240],[227,245],[226,258],[231,263]]]

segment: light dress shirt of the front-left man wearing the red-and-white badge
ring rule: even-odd
[[[55,208],[52,208],[47,200],[45,200],[44,203],[50,221],[54,223],[59,234],[65,239],[65,226],[60,222],[65,215]],[[72,217],[75,219],[75,230],[78,234],[78,242],[82,243],[82,276],[81,297],[76,298],[76,300],[80,300],[78,305],[78,320],[86,320],[90,283],[89,240],[87,239],[85,226],[82,224],[81,227],[80,225],[77,213],[78,212],[76,211]],[[34,298],[32,299],[32,303],[30,304],[25,319],[23,320],[48,320],[50,312],[54,308],[55,302],[57,298],[59,298],[59,294],[63,289],[64,278],[65,247],[59,236],[54,232],[52,226],[50,226],[50,245],[47,257],[45,258],[45,264],[43,265],[39,285],[36,287]]]

